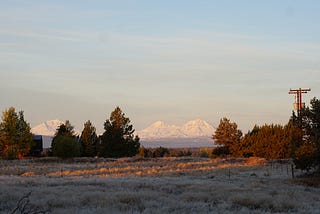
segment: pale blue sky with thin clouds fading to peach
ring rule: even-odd
[[[117,106],[136,130],[284,125],[290,88],[320,98],[319,11],[317,0],[3,0],[0,111],[98,132]]]

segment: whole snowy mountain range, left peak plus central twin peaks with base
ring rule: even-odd
[[[31,132],[52,138],[57,128],[63,123],[60,120],[48,120],[33,127]],[[181,126],[157,121],[135,134],[140,137],[141,144],[145,147],[209,147],[213,145],[211,136],[214,131],[209,123],[196,119]],[[81,133],[77,130],[75,132]],[[46,144],[51,145],[51,141],[48,140]]]

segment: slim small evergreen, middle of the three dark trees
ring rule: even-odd
[[[96,128],[91,124],[90,120],[84,124],[80,141],[82,144],[82,156],[94,157],[97,155],[98,136]]]

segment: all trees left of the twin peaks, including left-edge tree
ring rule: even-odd
[[[77,136],[70,121],[61,124],[52,139],[50,155],[70,157],[131,157],[140,149],[140,139],[134,135],[130,119],[119,107],[104,123],[101,136],[90,120],[85,122],[83,131]],[[28,156],[34,146],[30,124],[24,120],[23,111],[15,112],[10,107],[2,115],[0,123],[0,157],[17,159]]]

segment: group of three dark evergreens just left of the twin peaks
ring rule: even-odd
[[[52,155],[57,157],[132,157],[140,148],[140,139],[134,135],[130,119],[119,107],[111,113],[104,123],[101,136],[90,120],[84,124],[80,137],[74,134],[69,121],[58,127],[52,140]]]

